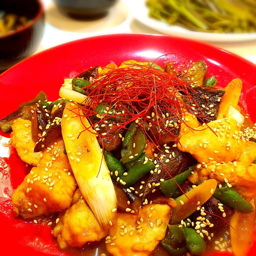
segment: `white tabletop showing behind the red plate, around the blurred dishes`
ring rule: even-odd
[[[93,1],[93,0],[92,0]],[[52,0],[43,0],[46,13],[45,33],[38,51],[80,38],[118,33],[153,33],[150,29],[132,17],[131,8],[136,1],[119,0],[106,17],[94,21],[78,21],[63,15]],[[256,42],[213,43],[223,49],[238,54],[256,64]]]

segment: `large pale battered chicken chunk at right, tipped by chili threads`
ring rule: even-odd
[[[199,163],[234,161],[241,154],[240,129],[234,118],[222,118],[199,126],[184,134],[177,144],[179,150],[188,152]]]

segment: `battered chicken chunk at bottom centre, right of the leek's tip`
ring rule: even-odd
[[[116,225],[109,230],[107,251],[113,256],[150,255],[165,237],[170,213],[171,207],[162,204],[145,205],[138,216],[118,213]]]

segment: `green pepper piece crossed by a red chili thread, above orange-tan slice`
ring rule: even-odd
[[[191,173],[191,171],[193,171],[193,168],[194,167],[190,167],[187,171],[176,175],[173,179],[178,183],[178,185],[181,185],[185,181],[185,179],[189,177],[189,174]],[[173,196],[178,188],[178,185],[173,179],[168,179],[161,182],[160,184],[161,191],[169,198]]]

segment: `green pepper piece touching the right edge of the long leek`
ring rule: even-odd
[[[125,173],[125,167],[123,167],[122,163],[117,158],[115,158],[111,152],[104,150],[103,154],[110,173],[113,173],[111,178],[116,180],[117,177],[120,177],[123,175],[123,173]],[[118,171],[118,176],[115,175],[115,171]]]

